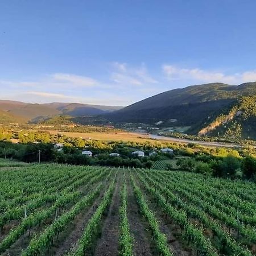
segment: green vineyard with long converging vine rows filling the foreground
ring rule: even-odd
[[[1,255],[256,255],[256,185],[181,171],[0,168]]]

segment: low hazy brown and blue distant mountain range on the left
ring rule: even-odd
[[[121,109],[119,106],[101,106],[79,103],[52,102],[48,104],[30,104],[20,101],[0,100],[0,118],[5,114],[4,119],[10,117],[20,118],[19,120],[37,121],[46,117],[56,115],[70,115],[80,117],[82,115],[99,115]]]

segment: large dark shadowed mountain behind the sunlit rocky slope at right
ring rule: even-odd
[[[155,123],[175,119],[175,126],[191,126],[199,133],[210,120],[232,109],[241,97],[256,96],[256,82],[188,86],[163,92],[107,115],[115,122]]]

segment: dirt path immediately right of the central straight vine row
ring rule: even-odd
[[[152,253],[151,235],[146,230],[147,225],[144,218],[139,213],[138,204],[136,202],[133,187],[129,174],[127,174],[127,214],[130,225],[130,232],[134,238],[133,241],[133,253],[134,255],[154,255]]]

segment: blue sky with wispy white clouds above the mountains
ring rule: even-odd
[[[2,100],[126,106],[256,81],[255,0],[1,0]]]

